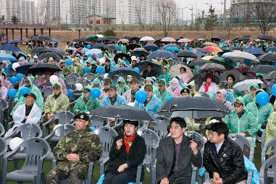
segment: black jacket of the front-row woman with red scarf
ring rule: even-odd
[[[135,181],[137,167],[144,160],[144,156],[146,154],[145,140],[137,134],[130,147],[129,153],[127,154],[124,142],[121,150],[116,150],[116,141],[119,139],[121,139],[121,136],[116,136],[112,143],[112,147],[109,152],[110,163],[106,172],[119,174],[119,172],[117,172],[119,166],[124,163],[128,163],[128,168],[124,172],[128,172],[128,176],[130,176],[131,180]]]

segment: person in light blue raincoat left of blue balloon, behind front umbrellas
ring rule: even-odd
[[[150,114],[154,115],[162,106],[162,101],[153,94],[152,85],[146,85],[144,90],[147,93],[147,99],[144,103],[139,103],[135,101],[135,107],[141,110],[146,110]]]

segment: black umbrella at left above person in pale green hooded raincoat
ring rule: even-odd
[[[36,65],[32,65],[28,72],[32,74],[44,74],[45,72],[59,72],[62,71],[58,65],[51,65],[49,63],[37,63]]]

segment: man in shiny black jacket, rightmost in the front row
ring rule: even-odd
[[[244,154],[239,145],[228,138],[228,133],[228,126],[222,121],[210,126],[210,141],[204,146],[203,165],[211,179],[204,184],[246,183]]]

